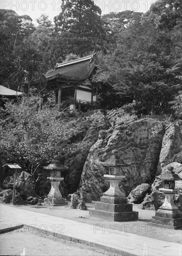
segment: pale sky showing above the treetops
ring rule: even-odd
[[[152,3],[156,0],[94,0],[100,7],[102,14],[110,12],[123,12],[132,10],[143,12],[149,10]],[[42,13],[53,18],[61,12],[61,0],[0,0],[0,9],[11,9],[19,15],[29,15],[33,22]]]

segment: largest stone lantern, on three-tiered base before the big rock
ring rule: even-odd
[[[116,156],[117,155],[117,156]],[[138,220],[138,212],[132,211],[132,204],[127,203],[126,194],[119,189],[119,182],[125,178],[121,175],[121,166],[126,166],[119,160],[118,151],[113,150],[112,156],[101,165],[109,168],[109,175],[104,175],[110,188],[100,197],[100,202],[95,202],[95,209],[89,209],[89,216],[109,221]]]

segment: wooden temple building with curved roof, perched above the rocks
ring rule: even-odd
[[[55,91],[58,108],[70,97],[75,99],[76,105],[97,101],[99,85],[91,82],[95,67],[95,54],[56,64],[55,70],[46,79],[47,90]]]

